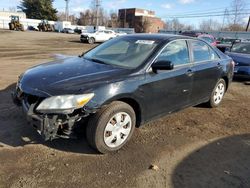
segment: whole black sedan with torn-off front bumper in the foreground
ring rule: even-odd
[[[45,140],[87,126],[88,143],[107,153],[156,117],[204,102],[219,106],[232,77],[232,59],[203,40],[131,34],[30,68],[13,101]]]

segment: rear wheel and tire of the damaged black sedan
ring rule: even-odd
[[[208,101],[208,106],[210,108],[216,108],[220,105],[224,94],[226,92],[226,82],[224,79],[219,79],[219,81],[216,83],[213,92],[211,93],[210,99]]]

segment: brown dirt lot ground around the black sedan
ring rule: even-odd
[[[250,187],[250,86],[243,82],[231,85],[219,108],[153,121],[113,154],[97,154],[84,136],[43,142],[12,104],[11,90],[28,67],[93,47],[78,41],[0,31],[0,187]]]

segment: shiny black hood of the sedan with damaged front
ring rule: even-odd
[[[100,64],[79,57],[60,59],[28,69],[19,80],[20,89],[40,97],[77,94],[121,79],[128,69]]]

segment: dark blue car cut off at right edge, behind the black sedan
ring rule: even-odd
[[[226,54],[235,62],[234,76],[250,79],[250,42],[236,42]]]

